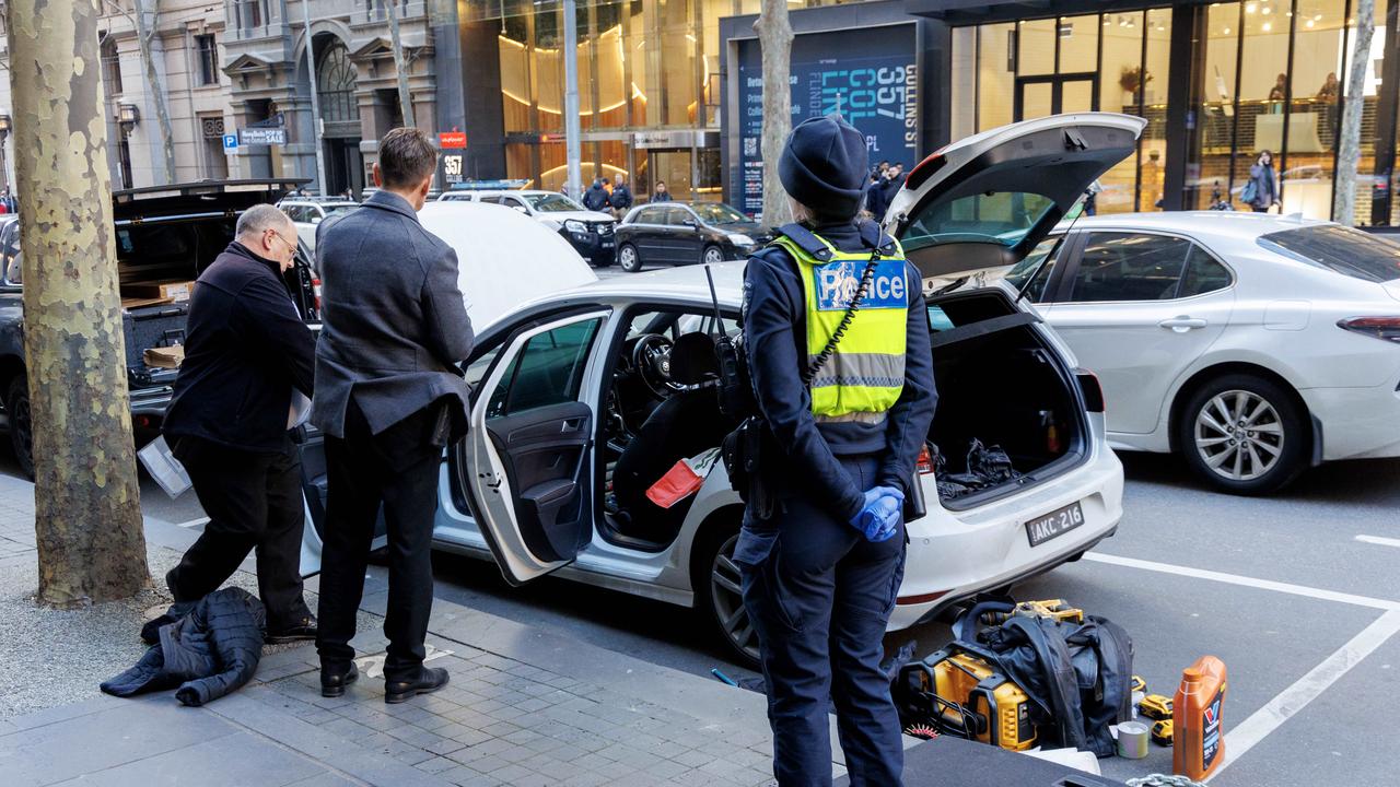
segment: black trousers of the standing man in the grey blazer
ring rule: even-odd
[[[321,664],[344,669],[364,595],[364,570],[379,506],[389,528],[389,604],[384,633],[386,681],[417,676],[433,611],[433,520],[442,445],[428,408],[378,436],[351,401],[344,437],[326,437],[326,525],[321,557]]]

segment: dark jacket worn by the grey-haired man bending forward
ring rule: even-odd
[[[232,242],[195,284],[185,361],[164,431],[241,451],[281,451],[291,389],[311,396],[316,339],[276,262]]]

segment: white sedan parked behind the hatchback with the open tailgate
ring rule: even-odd
[[[1298,217],[1099,216],[1008,280],[1099,375],[1117,448],[1243,494],[1400,455],[1400,245]]]

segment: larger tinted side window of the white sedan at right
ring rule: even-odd
[[[1176,297],[1191,242],[1170,235],[1093,232],[1079,256],[1071,301],[1165,301]]]

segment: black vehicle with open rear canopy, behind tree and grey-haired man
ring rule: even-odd
[[[116,269],[120,284],[134,281],[189,281],[197,279],[234,239],[238,216],[263,203],[276,203],[304,181],[202,181],[188,185],[153,186],[112,192],[116,230]],[[10,433],[20,469],[34,478],[32,431],[29,429],[29,386],[24,356],[24,297],[20,253],[20,224],[0,225],[0,402],[3,426]],[[287,293],[308,322],[321,319],[319,280],[300,248],[295,265],[286,273]],[[132,401],[132,420],[139,441],[160,431],[171,385],[172,368],[146,364],[148,347],[185,340],[189,312],[183,298],[141,304],[123,298],[122,328],[126,342],[125,365]]]

